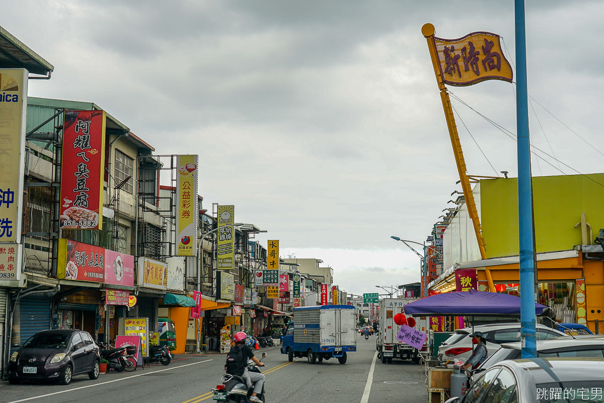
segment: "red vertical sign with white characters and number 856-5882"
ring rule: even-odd
[[[65,111],[61,163],[61,229],[102,229],[104,146],[104,111]]]

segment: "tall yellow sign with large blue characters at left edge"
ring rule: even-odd
[[[0,69],[0,242],[21,243],[27,75],[25,69]],[[11,273],[0,280],[21,277],[19,262]]]

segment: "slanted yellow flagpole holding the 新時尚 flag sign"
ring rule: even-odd
[[[451,108],[449,92],[447,92],[445,83],[443,83],[443,77],[440,75],[440,60],[434,45],[434,25],[429,23],[424,24],[422,27],[422,34],[428,42],[428,50],[430,51],[430,59],[432,59],[432,67],[434,67],[436,82],[439,84],[440,99],[443,103],[445,119],[447,121],[447,127],[449,128],[449,137],[451,137],[451,146],[453,147],[455,164],[457,164],[457,171],[459,172],[461,189],[463,190],[468,214],[470,215],[472,224],[474,225],[474,232],[476,234],[476,239],[478,240],[478,248],[480,249],[480,257],[481,259],[486,259],[486,248],[484,246],[484,238],[480,227],[480,218],[478,218],[478,210],[476,209],[476,202],[470,186],[470,180],[467,177],[466,161],[463,158],[463,151],[461,150],[461,143],[459,141],[459,134],[457,133],[457,126],[455,125],[455,117],[453,115],[453,109]],[[486,276],[487,282],[489,283],[489,291],[495,292],[495,285],[493,284],[493,279],[490,275],[489,269],[486,269]]]

